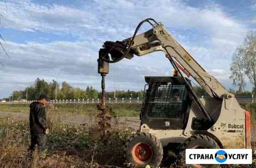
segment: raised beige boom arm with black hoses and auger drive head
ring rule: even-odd
[[[154,21],[155,24],[150,23],[150,21]],[[152,29],[136,35],[139,27],[144,22],[149,22]],[[171,36],[165,27],[160,22],[157,23],[154,19],[149,18],[141,21],[137,26],[133,37],[124,39],[121,42],[107,41],[104,43],[103,47],[104,48],[100,50],[99,58],[103,62],[105,61],[107,63],[117,63],[123,58],[131,59],[134,54],[137,56],[143,56],[155,51],[163,51],[165,53],[165,57],[169,59],[172,66],[184,79],[198,107],[211,123],[213,123],[213,118],[209,115],[203,103],[194,92],[191,84],[187,82],[181,71],[183,71],[187,77],[192,76],[193,79],[195,79],[211,97],[214,97],[221,102],[224,99],[235,99],[233,94],[230,94],[217,79],[207,73],[206,70],[204,70],[204,68],[187,52],[187,50]],[[111,55],[112,60],[110,59],[109,54]],[[104,69],[104,66],[99,69]],[[101,75],[106,74],[106,72],[101,70],[99,70],[98,73],[101,73]]]

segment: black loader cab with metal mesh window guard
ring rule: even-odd
[[[184,79],[146,76],[145,81],[141,124],[151,129],[184,129],[192,101]]]

